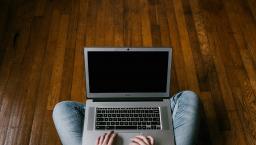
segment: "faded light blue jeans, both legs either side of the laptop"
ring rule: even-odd
[[[192,91],[171,98],[176,145],[194,145],[199,126],[199,98]],[[63,101],[53,110],[53,120],[63,145],[81,145],[85,105]]]

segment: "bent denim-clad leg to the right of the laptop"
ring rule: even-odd
[[[194,145],[199,127],[199,98],[192,91],[183,91],[171,98],[176,145]]]

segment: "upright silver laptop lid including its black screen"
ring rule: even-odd
[[[84,48],[88,98],[168,98],[171,48]]]

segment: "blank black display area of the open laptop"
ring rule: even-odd
[[[88,52],[91,93],[166,92],[168,52]]]

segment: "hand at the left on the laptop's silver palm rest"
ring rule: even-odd
[[[105,133],[104,135],[98,137],[96,141],[96,145],[113,145],[113,141],[117,136],[114,131],[110,131],[109,133]]]

